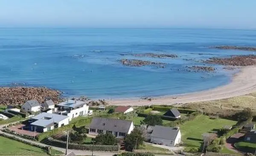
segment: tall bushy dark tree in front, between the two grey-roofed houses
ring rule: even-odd
[[[134,149],[142,145],[143,141],[143,132],[138,128],[134,128],[134,130],[130,134],[127,134],[125,136],[125,149],[128,151],[133,151]]]

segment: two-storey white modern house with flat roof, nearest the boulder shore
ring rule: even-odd
[[[87,115],[89,111],[89,106],[84,101],[67,100],[58,104],[57,107],[52,113],[69,116],[70,121],[78,116]]]

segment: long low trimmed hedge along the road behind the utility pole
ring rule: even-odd
[[[45,143],[48,145],[66,148],[66,142],[56,140],[53,138],[45,139]],[[98,150],[98,151],[118,151],[118,145],[79,145],[79,144],[69,144],[69,149],[73,150]]]

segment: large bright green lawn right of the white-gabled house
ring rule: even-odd
[[[187,147],[201,146],[202,134],[211,133],[214,129],[222,128],[224,125],[235,125],[236,121],[227,119],[209,119],[209,116],[197,116],[192,121],[185,122],[180,126],[181,139]]]

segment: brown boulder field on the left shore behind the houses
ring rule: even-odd
[[[45,99],[61,101],[60,91],[44,87],[2,87],[0,88],[0,105],[23,105],[27,100],[36,99],[43,103]]]

